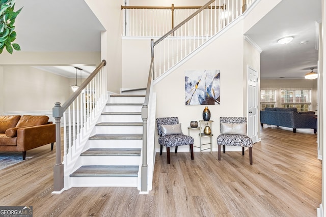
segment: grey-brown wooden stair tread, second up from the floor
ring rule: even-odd
[[[140,156],[141,148],[89,148],[80,156]]]

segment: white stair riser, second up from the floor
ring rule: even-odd
[[[82,165],[139,165],[140,156],[80,156]]]

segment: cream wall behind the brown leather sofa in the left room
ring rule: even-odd
[[[3,112],[51,111],[72,94],[71,79],[34,67],[5,66]]]

